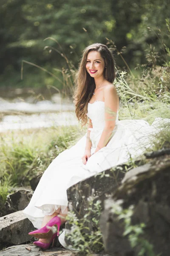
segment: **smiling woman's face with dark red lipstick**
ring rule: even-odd
[[[86,70],[91,77],[99,78],[103,76],[105,69],[105,61],[97,51],[91,51],[88,53],[86,60]]]

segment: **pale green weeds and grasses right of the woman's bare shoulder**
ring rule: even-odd
[[[147,71],[137,79],[118,72],[115,86],[121,99],[120,119],[144,119],[151,124],[156,117],[170,117],[169,70],[156,67]]]

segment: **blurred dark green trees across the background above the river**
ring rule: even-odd
[[[164,65],[170,40],[168,0],[1,0],[0,87],[43,87],[62,84],[22,60],[46,68],[67,68],[62,55],[77,67],[82,50],[95,42],[116,45],[116,65],[132,70],[148,62]],[[168,34],[169,33],[169,34]],[[54,38],[45,40],[45,38]],[[59,46],[60,45],[60,46]],[[150,47],[152,45],[152,47]],[[45,46],[54,47],[46,48]],[[109,44],[108,44],[109,46]],[[166,48],[166,47],[167,48]],[[123,47],[123,51],[122,51]],[[118,54],[117,54],[118,53]]]

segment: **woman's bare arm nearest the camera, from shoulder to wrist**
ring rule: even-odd
[[[112,132],[115,127],[116,114],[119,108],[119,97],[113,84],[109,84],[104,90],[105,98],[105,127],[102,131],[99,143],[94,153],[105,147],[111,140]]]

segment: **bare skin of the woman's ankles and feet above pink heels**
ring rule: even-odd
[[[67,210],[68,210],[68,207],[67,207]],[[61,219],[61,225],[64,224],[66,222],[65,218],[66,218],[67,214],[63,214],[61,209],[59,208],[52,215],[45,215],[45,217],[42,221],[41,227],[44,227],[48,223],[48,221],[50,221],[52,218],[54,218],[57,215],[59,215],[59,218]],[[49,243],[50,240],[51,240],[51,237],[48,237],[46,239],[39,239],[39,241],[42,243]]]

